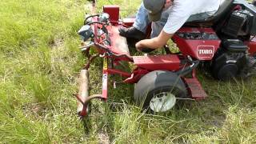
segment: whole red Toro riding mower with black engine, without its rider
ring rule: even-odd
[[[120,18],[119,6],[103,6],[102,14],[86,17],[78,30],[82,53],[88,58],[80,74],[78,115],[88,114],[88,103],[108,94],[110,74],[119,74],[125,83],[134,84],[134,101],[143,109],[165,112],[178,99],[201,100],[207,97],[196,77],[203,63],[214,78],[246,78],[256,67],[256,4],[244,0],[222,0],[219,10],[210,18],[186,23],[172,41],[179,49],[173,54],[166,46],[164,54],[133,56],[127,39],[118,28],[133,25],[134,18]],[[95,1],[93,2],[95,6]],[[90,50],[97,51],[92,54]],[[103,59],[102,94],[89,93],[89,69],[94,58]],[[130,72],[116,68],[130,62]],[[201,66],[201,65],[200,65]]]

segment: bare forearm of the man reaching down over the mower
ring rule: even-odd
[[[141,51],[142,48],[158,49],[166,45],[166,42],[173,36],[173,34],[167,34],[163,30],[156,38],[144,39],[136,43],[136,49]]]

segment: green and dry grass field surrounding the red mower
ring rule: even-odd
[[[78,74],[86,61],[76,31],[85,1],[0,2],[0,143],[255,143],[256,78],[218,82],[201,71],[209,95],[167,114],[141,112],[133,86],[110,86],[90,118],[75,114]],[[139,1],[98,1],[138,8]],[[123,15],[130,15],[126,12]],[[101,91],[102,60],[90,67],[92,94]],[[111,78],[120,81],[119,77]]]

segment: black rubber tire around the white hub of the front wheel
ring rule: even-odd
[[[187,98],[182,78],[170,71],[155,70],[144,75],[135,85],[134,100],[143,109],[154,111],[150,109],[150,101],[155,95],[163,92],[173,94],[175,98]]]

